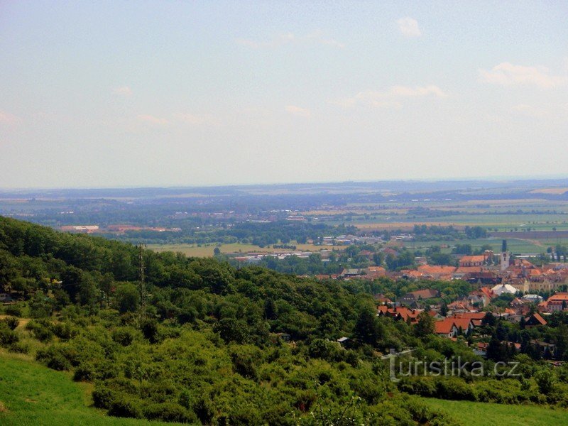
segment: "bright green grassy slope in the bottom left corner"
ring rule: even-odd
[[[108,417],[89,404],[88,385],[0,350],[0,425],[173,425]]]

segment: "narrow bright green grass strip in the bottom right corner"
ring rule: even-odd
[[[568,411],[534,405],[471,403],[420,398],[435,410],[443,411],[464,426],[553,426],[568,425]]]

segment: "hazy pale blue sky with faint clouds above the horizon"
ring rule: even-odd
[[[0,187],[568,176],[566,1],[0,0]]]

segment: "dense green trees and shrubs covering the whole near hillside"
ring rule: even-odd
[[[469,290],[435,285],[442,297]],[[0,292],[16,300],[3,307],[0,345],[94,383],[94,405],[109,415],[210,425],[449,425],[409,394],[564,404],[567,368],[553,371],[525,355],[498,352],[525,356],[520,379],[391,381],[380,356],[390,349],[487,368],[496,361],[474,355],[463,338],[435,336],[428,314],[417,324],[376,316],[373,293],[420,287],[238,269],[0,217]],[[24,317],[32,320],[16,330]]]

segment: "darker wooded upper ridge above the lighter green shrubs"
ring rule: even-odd
[[[89,314],[134,312],[139,255],[131,244],[0,218],[0,291],[50,313],[67,305]],[[358,312],[373,309],[368,295],[263,268],[153,251],[143,251],[143,265],[149,317],[178,324],[231,317],[246,325],[247,339],[266,339],[269,331],[337,338],[352,332]],[[266,320],[274,322],[267,328]]]

